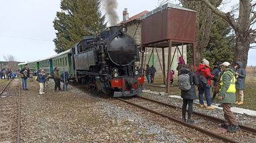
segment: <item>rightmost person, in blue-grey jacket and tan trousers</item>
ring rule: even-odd
[[[243,69],[243,62],[238,61],[235,63],[235,77],[237,78],[235,82],[236,90],[236,102],[235,104],[243,104],[243,90],[245,89],[245,77],[246,72]]]

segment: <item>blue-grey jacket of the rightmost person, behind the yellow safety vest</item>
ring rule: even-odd
[[[246,77],[245,69],[243,69],[243,62],[238,61],[235,64],[239,65],[239,67],[235,70],[235,72],[239,73],[236,76],[237,82],[235,83],[235,88],[243,90],[245,89],[245,77]]]

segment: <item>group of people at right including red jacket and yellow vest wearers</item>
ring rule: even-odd
[[[196,71],[196,72],[194,72]],[[238,61],[232,67],[229,62],[217,63],[213,71],[209,66],[209,61],[203,59],[196,70],[193,65],[185,65],[178,72],[178,87],[181,89],[182,120],[188,124],[195,121],[191,119],[193,112],[193,100],[197,98],[196,90],[199,90],[199,107],[214,109],[212,102],[217,100],[223,107],[225,124],[228,132],[236,132],[239,126],[235,119],[231,106],[233,104],[243,104],[243,90],[245,89],[246,72],[243,69],[243,63]],[[212,83],[213,80],[213,83]],[[211,88],[213,98],[211,99]],[[203,94],[207,104],[203,102]],[[215,99],[217,96],[217,99]],[[186,106],[188,106],[188,117],[186,118]]]

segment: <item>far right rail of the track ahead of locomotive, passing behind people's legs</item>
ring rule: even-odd
[[[138,96],[138,95],[137,95]],[[178,106],[174,106],[174,105],[171,105],[171,104],[167,104],[167,103],[164,103],[164,102],[160,102],[160,101],[158,101],[158,100],[154,100],[154,99],[150,99],[150,98],[146,98],[146,97],[142,97],[142,96],[138,96],[139,98],[143,98],[143,99],[145,99],[145,100],[150,100],[150,101],[152,101],[152,102],[156,102],[156,103],[158,103],[158,104],[162,104],[162,105],[164,105],[164,106],[169,106],[169,107],[171,107],[171,108],[179,108],[179,109],[181,109],[180,107],[178,107]],[[223,119],[221,119],[221,118],[216,118],[216,117],[214,117],[214,116],[209,116],[209,115],[207,115],[207,114],[203,114],[203,113],[201,113],[201,112],[195,112],[195,111],[193,111],[193,114],[195,114],[195,115],[197,115],[197,116],[201,116],[201,117],[203,117],[203,118],[207,118],[207,119],[209,119],[209,120],[211,120],[211,121],[213,121],[213,122],[218,122],[218,123],[220,123],[220,124],[224,124],[224,121],[225,120],[223,120]],[[249,127],[249,126],[245,126],[245,125],[242,125],[242,124],[239,124],[239,127],[241,128],[241,130],[243,130],[243,131],[245,131],[245,132],[249,132],[249,133],[251,133],[251,134],[256,134],[256,128],[251,128],[251,127]]]

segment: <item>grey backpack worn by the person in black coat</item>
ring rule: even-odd
[[[181,90],[189,90],[191,88],[190,76],[188,73],[178,75],[178,88]]]

